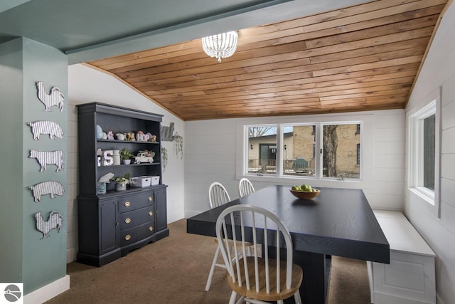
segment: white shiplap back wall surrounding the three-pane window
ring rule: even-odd
[[[303,120],[369,120],[363,130],[363,162],[369,167],[363,182],[311,180],[315,187],[363,189],[375,209],[404,209],[405,111],[387,110],[336,115],[305,115],[185,122],[185,214],[190,217],[207,210],[208,187],[212,182],[224,184],[231,199],[237,199],[236,166],[241,162],[242,144],[238,125],[255,123],[292,123]],[[239,140],[240,138],[240,140]],[[296,179],[248,177],[255,189],[269,184],[301,184]]]

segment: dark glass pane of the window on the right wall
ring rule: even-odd
[[[431,115],[424,120],[424,155],[423,172],[424,187],[434,191],[434,122],[435,115]]]

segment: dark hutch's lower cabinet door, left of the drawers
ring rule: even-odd
[[[119,212],[117,198],[100,201],[100,253],[119,247]]]

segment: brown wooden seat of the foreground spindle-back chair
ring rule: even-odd
[[[261,280],[261,284],[259,285],[259,292],[256,292],[255,286],[255,262],[254,257],[247,257],[247,264],[248,264],[248,274],[250,277],[250,290],[247,289],[247,285],[245,283],[245,268],[240,259],[240,272],[242,274],[242,286],[239,286],[237,282],[232,282],[232,278],[228,273],[228,285],[230,288],[235,291],[236,293],[243,295],[247,298],[253,298],[257,300],[263,301],[277,301],[277,300],[284,300],[290,298],[301,285],[303,280],[304,271],[302,271],[301,267],[292,264],[292,283],[291,288],[284,289],[281,293],[277,293],[277,282],[276,280],[271,280],[270,282],[270,293],[267,293],[265,288],[265,281]],[[258,266],[259,266],[259,277],[265,277],[265,261],[264,258],[258,258]],[[237,269],[235,269],[235,279],[237,280]],[[286,285],[286,263],[280,263],[280,281],[281,285]],[[269,273],[270,278],[274,278],[277,273],[277,261],[274,259],[269,259]]]

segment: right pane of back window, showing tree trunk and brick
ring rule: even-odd
[[[360,179],[358,124],[323,125],[323,177]]]

